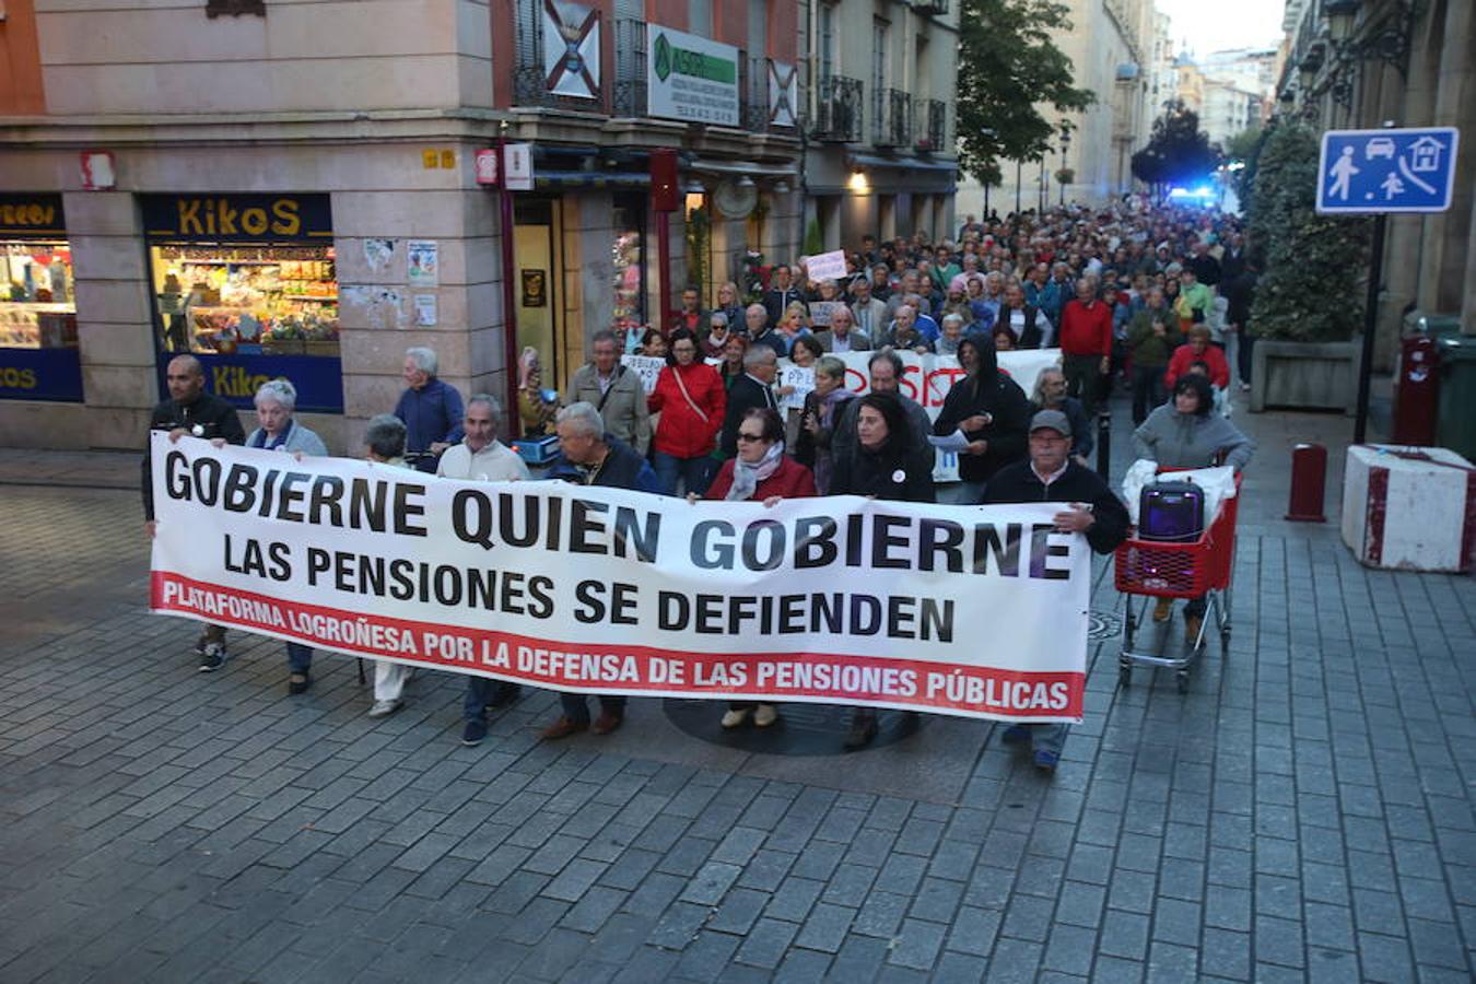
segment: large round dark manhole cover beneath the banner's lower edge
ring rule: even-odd
[[[843,742],[850,732],[852,708],[835,704],[779,704],[779,720],[769,727],[723,730],[720,724],[728,704],[723,701],[663,701],[666,717],[679,729],[711,745],[737,748],[763,755],[844,755]],[[918,729],[927,727],[931,716],[903,711],[877,711],[877,736],[866,748],[892,745]]]

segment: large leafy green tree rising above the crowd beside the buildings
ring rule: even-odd
[[[1055,127],[1039,106],[1082,112],[1097,102],[1072,84],[1072,59],[1051,40],[1070,30],[1055,0],[964,0],[958,12],[958,158],[983,184],[999,184],[1001,161],[1051,150]]]

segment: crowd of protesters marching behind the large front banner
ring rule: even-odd
[[[564,394],[542,388],[539,356],[520,358],[518,404],[503,420],[499,401],[461,394],[437,378],[435,354],[410,348],[406,389],[393,415],[370,420],[366,456],[453,478],[530,478],[527,465],[496,434],[556,434],[548,477],[635,488],[688,500],[773,505],[806,496],[858,494],[937,502],[936,453],[928,437],[958,446],[958,478],[942,496],[953,503],[1067,502],[1063,531],[1086,534],[1111,552],[1128,534],[1128,513],[1085,468],[1092,419],[1120,385],[1131,392],[1141,457],[1190,468],[1228,460],[1237,469],[1252,444],[1227,417],[1231,392],[1249,388],[1253,333],[1246,323],[1256,270],[1238,221],[1215,212],[1150,209],[1122,202],[1092,211],[1058,208],[1007,220],[967,217],[956,236],[925,233],[878,242],[862,238],[849,276],[813,282],[803,263],[762,273],[747,297],[719,285],[716,305],[682,292],[663,328],[617,326],[589,341],[590,361]],[[1039,373],[1032,392],[1001,370],[999,351],[1058,348],[1060,367]],[[1227,348],[1231,350],[1227,353]],[[953,356],[962,369],[936,419],[899,391],[897,353]],[[869,391],[844,385],[844,353],[868,353]],[[645,392],[623,354],[666,360]],[[788,417],[776,387],[779,358],[813,369],[815,387]],[[176,437],[248,443],[323,454],[294,423],[295,394],[276,381],[257,394],[260,428],[241,434],[227,404],[204,392],[199,363],[182,356],[168,369],[170,398],[152,426]],[[561,398],[558,398],[561,395]],[[562,406],[561,406],[562,404]],[[145,512],[152,531],[149,465]],[[1156,618],[1166,620],[1160,605]],[[1185,623],[1203,617],[1191,600]],[[201,670],[226,658],[224,630],[201,637]],[[311,685],[311,649],[288,646],[288,687]],[[373,717],[404,705],[404,667],[376,664]],[[463,742],[487,735],[487,711],[518,698],[517,685],[468,677]],[[608,733],[624,717],[623,698],[601,698],[590,718],[582,695],[564,695],[546,739]],[[772,704],[731,704],[723,727],[772,726]],[[847,748],[877,733],[875,714],[858,708]],[[1008,744],[1033,742],[1035,764],[1054,770],[1066,729],[1013,727]]]

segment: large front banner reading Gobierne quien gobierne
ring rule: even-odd
[[[1051,503],[695,503],[151,437],[151,609],[586,693],[1079,720]]]

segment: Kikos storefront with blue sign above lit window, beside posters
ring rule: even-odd
[[[149,195],[143,214],[161,375],[190,353],[236,406],[286,378],[298,409],[341,413],[328,196]]]

